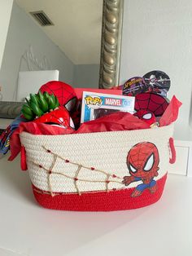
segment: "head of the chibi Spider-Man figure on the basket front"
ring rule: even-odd
[[[127,165],[129,173],[142,180],[157,176],[159,152],[155,144],[150,142],[137,143],[128,153]]]

